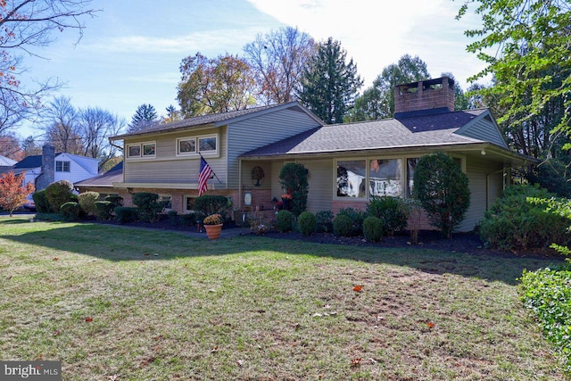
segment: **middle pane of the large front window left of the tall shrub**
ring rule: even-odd
[[[368,168],[369,196],[402,195],[401,159],[374,159]]]

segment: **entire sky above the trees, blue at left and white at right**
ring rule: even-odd
[[[140,104],[165,114],[178,106],[179,64],[201,52],[208,58],[242,54],[257,34],[285,25],[321,41],[341,42],[369,87],[377,75],[403,54],[418,55],[433,77],[451,71],[459,86],[484,67],[466,52],[463,32],[477,26],[476,16],[454,20],[462,2],[451,0],[94,0],[101,9],[85,19],[77,42],[74,30],[25,57],[29,80],[58,78],[65,86],[56,95],[76,107],[101,107],[127,122]],[[49,100],[48,100],[49,101]],[[37,136],[32,128],[16,130]]]

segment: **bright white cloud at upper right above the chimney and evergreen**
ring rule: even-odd
[[[434,77],[451,71],[461,87],[467,87],[466,79],[483,67],[475,54],[466,52],[468,39],[463,34],[476,25],[476,18],[454,20],[459,4],[449,0],[248,1],[318,40],[340,41],[357,64],[365,87],[403,54],[418,55]]]

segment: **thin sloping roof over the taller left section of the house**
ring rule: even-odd
[[[316,117],[313,113],[309,112],[305,107],[303,107],[298,102],[289,102],[287,104],[273,104],[269,106],[253,107],[251,109],[238,110],[234,112],[223,112],[217,114],[202,115],[167,124],[155,124],[151,127],[144,128],[136,132],[122,134],[116,137],[110,137],[110,140],[112,141],[120,140],[124,137],[137,137],[139,135],[145,135],[154,132],[156,133],[167,132],[178,128],[193,128],[193,127],[208,126],[208,125],[211,125],[213,127],[219,127],[239,120],[251,118],[253,116],[258,116],[264,113],[276,112],[285,109],[292,109],[298,112],[305,112],[308,115],[310,115],[311,118],[318,121],[319,124],[324,124],[323,120],[319,120],[318,117]]]

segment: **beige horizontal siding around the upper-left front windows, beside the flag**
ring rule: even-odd
[[[177,156],[177,138],[218,134],[219,155],[207,154],[204,159],[209,163],[218,178],[209,180],[209,184],[226,187],[226,128],[207,128],[200,131],[161,134],[144,139],[128,140],[126,145],[139,142],[156,142],[156,157],[153,159],[127,159],[124,164],[126,183],[183,183],[197,184],[200,171],[200,156]],[[220,180],[220,182],[219,182]],[[192,186],[191,186],[192,188]]]

